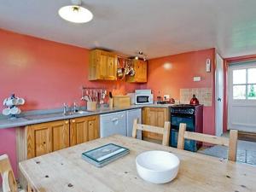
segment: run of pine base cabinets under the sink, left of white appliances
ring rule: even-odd
[[[18,140],[26,146],[23,160],[88,142],[99,137],[98,115],[27,125]]]

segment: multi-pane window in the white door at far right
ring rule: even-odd
[[[233,99],[256,100],[256,68],[233,70]]]

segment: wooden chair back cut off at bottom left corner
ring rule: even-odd
[[[0,173],[3,178],[3,192],[17,192],[17,183],[7,154],[0,156]]]

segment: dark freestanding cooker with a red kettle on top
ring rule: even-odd
[[[177,148],[177,137],[179,124],[187,125],[186,131],[202,132],[203,126],[203,105],[181,104],[170,108],[171,114],[171,137],[170,146]],[[184,149],[197,151],[201,143],[185,139]]]

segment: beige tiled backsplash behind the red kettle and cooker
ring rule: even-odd
[[[189,103],[193,94],[204,106],[212,106],[212,88],[180,89],[180,103]]]

